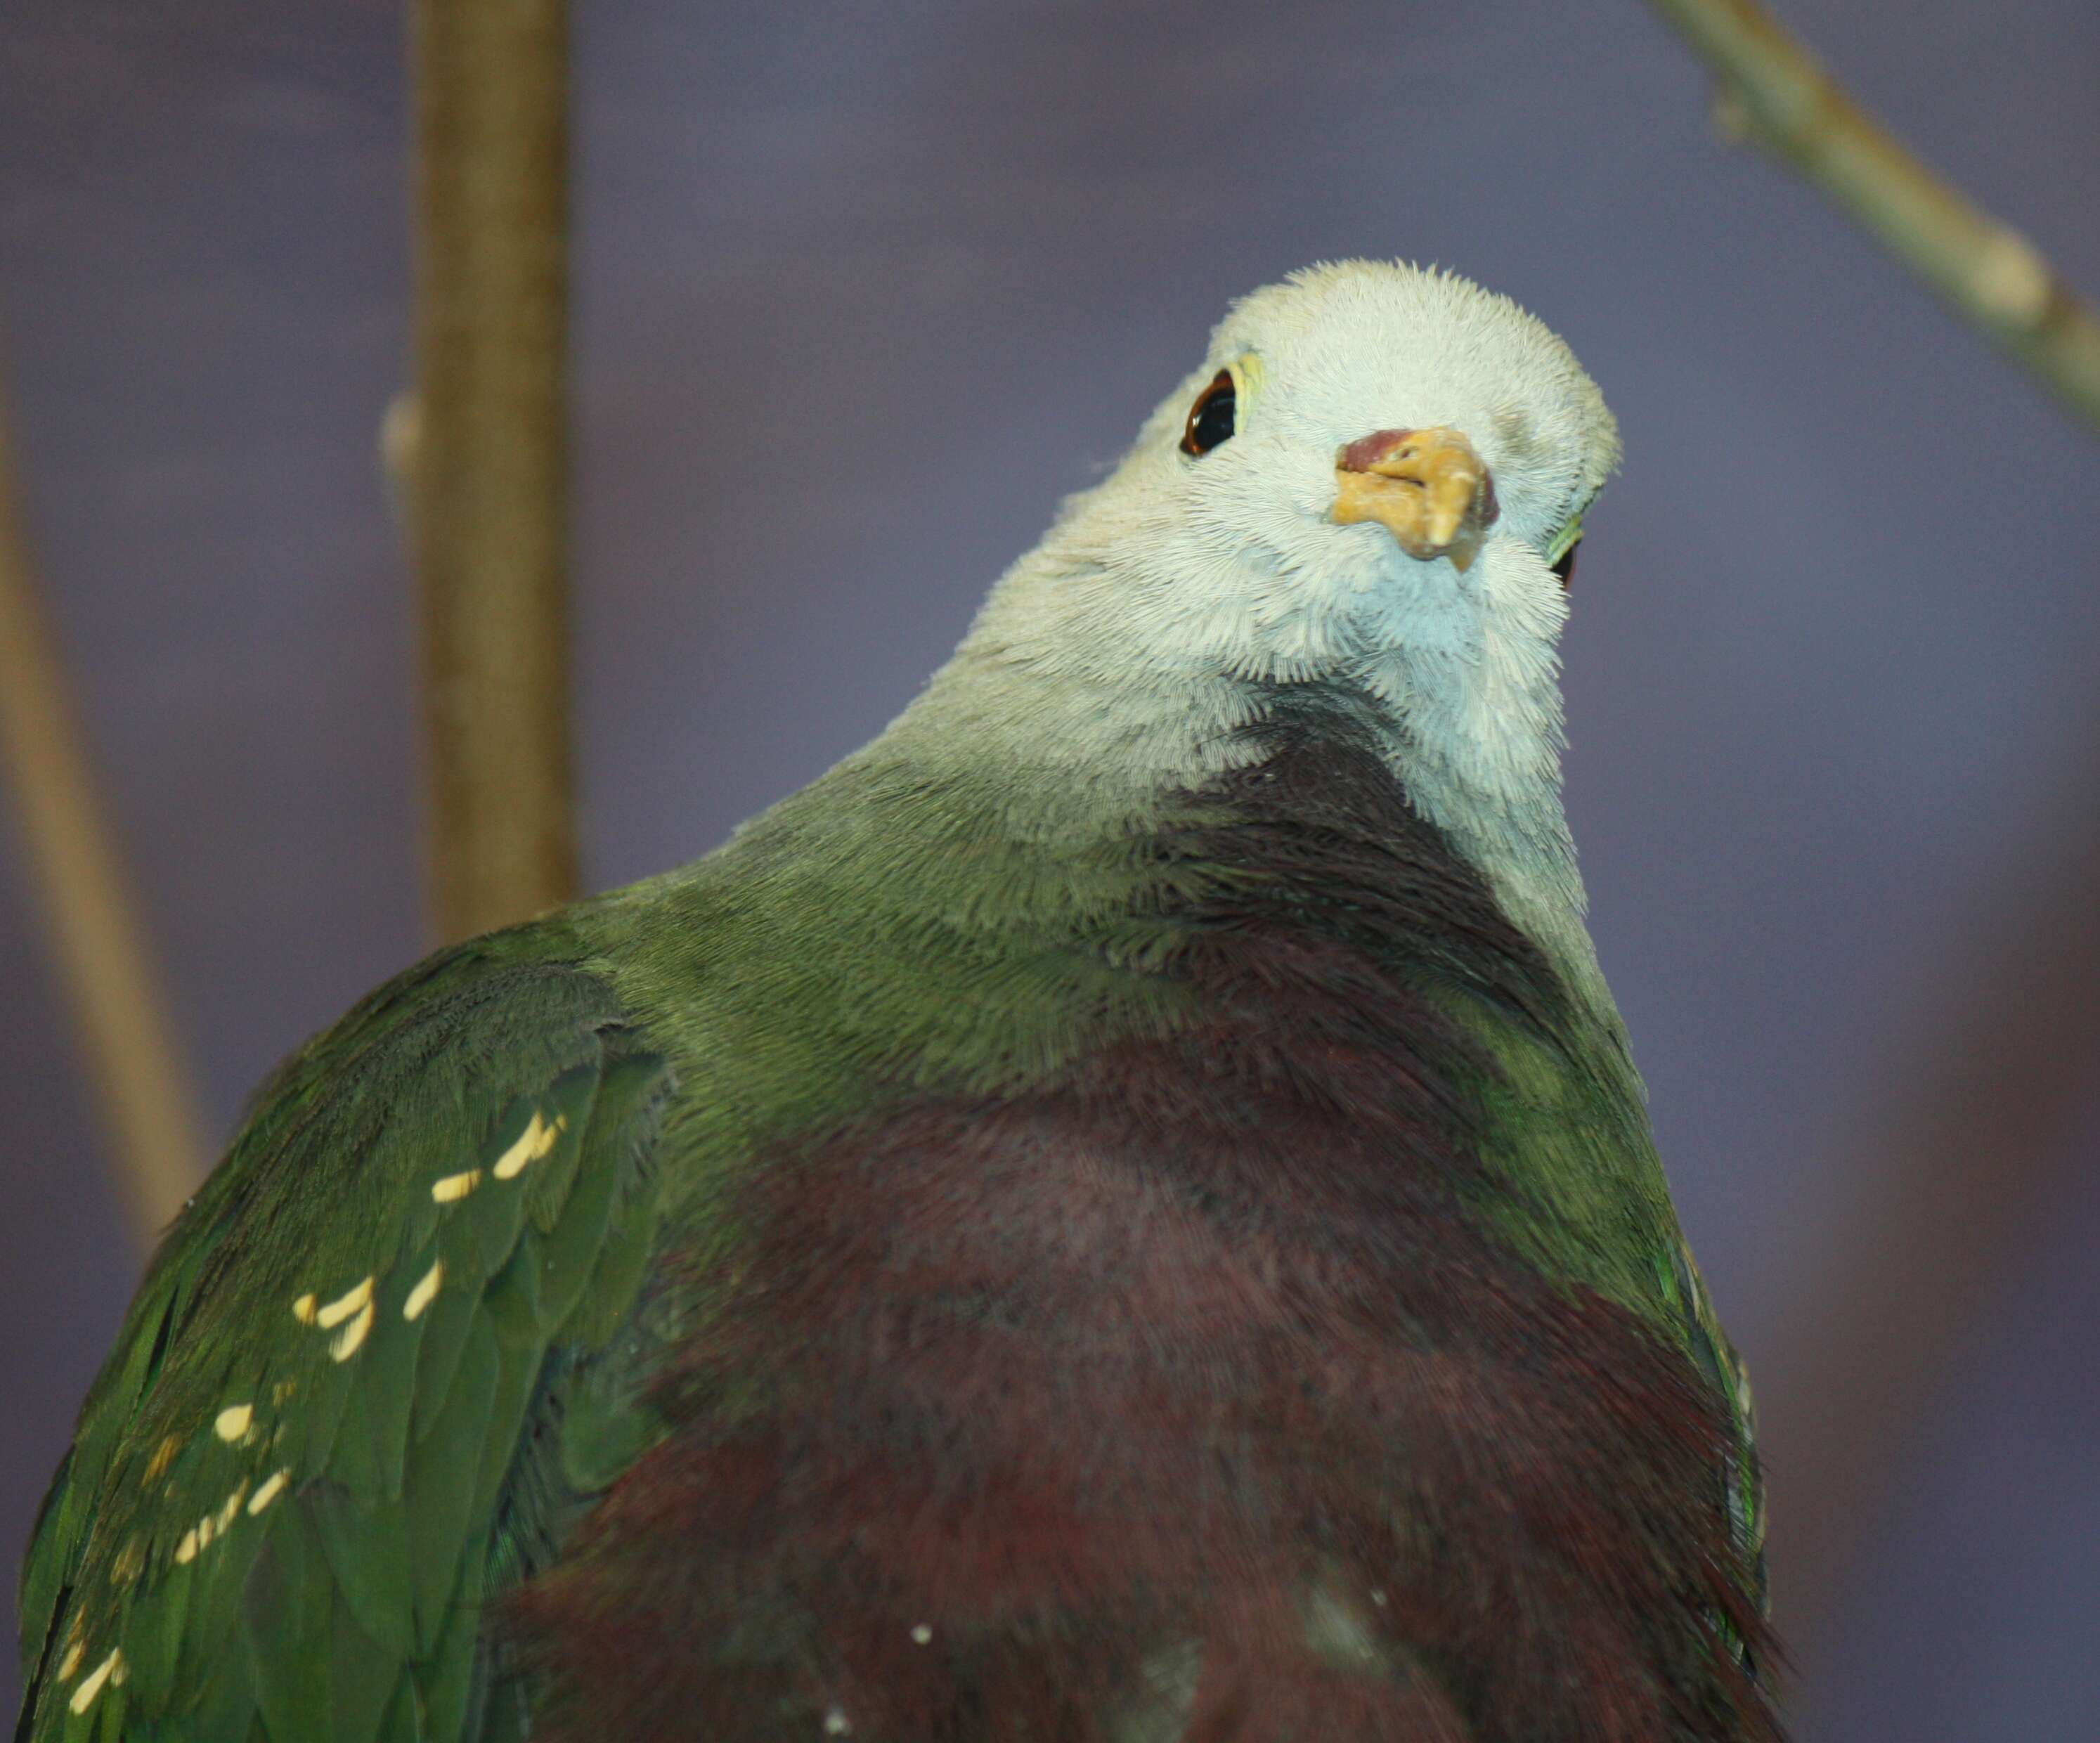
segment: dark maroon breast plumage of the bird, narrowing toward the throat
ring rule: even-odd
[[[1722,1403],[1480,1214],[1449,1004],[1550,1031],[1552,970],[1334,737],[1157,850],[1224,872],[1191,1021],[758,1170],[670,1436],[512,1606],[550,1735],[1777,1735]]]

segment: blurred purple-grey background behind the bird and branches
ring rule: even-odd
[[[1787,10],[2100,288],[2092,0]],[[424,947],[374,464],[401,36],[372,0],[15,0],[0,27],[25,512],[220,1136]],[[2090,437],[1718,147],[1634,0],[603,0],[575,48],[592,884],[874,733],[1226,298],[1323,256],[1453,265],[1558,328],[1625,433],[1567,643],[1569,802],[1684,1222],[1754,1371],[1842,1300],[1861,1193],[1905,1186],[1844,1157],[1974,916],[2094,802]],[[13,1558],[136,1254],[4,804],[0,987]],[[1827,1546],[1810,1743],[2100,1735],[2100,1096],[2062,1124],[2016,1262]],[[1810,1331],[1842,1346],[1846,1315]],[[1777,1512],[1789,1480],[1777,1455]]]

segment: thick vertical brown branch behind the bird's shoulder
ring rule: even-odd
[[[575,895],[567,6],[416,0],[416,403],[430,886],[460,939]]]

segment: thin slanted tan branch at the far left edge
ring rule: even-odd
[[[204,1178],[197,1136],[204,1128],[36,598],[4,420],[0,743],[59,968],[101,1090],[124,1199],[139,1237],[151,1243]]]

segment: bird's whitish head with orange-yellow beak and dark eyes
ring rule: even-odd
[[[1556,628],[1619,441],[1569,349],[1449,273],[1350,260],[1243,298],[1052,548],[1157,653],[1304,680]]]

